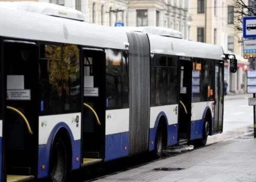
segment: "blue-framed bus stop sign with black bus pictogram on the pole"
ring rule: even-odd
[[[256,38],[256,17],[243,17],[243,38]]]

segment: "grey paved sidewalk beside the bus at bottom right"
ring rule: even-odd
[[[256,139],[241,136],[96,181],[256,181]]]

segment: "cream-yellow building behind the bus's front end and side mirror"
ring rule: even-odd
[[[231,0],[190,0],[191,40],[221,45],[224,53],[235,54],[238,59],[237,73],[229,72],[225,63],[224,79],[230,93],[246,93],[246,71],[249,62],[242,55],[242,34],[234,29],[235,1]],[[242,25],[242,24],[241,24]]]

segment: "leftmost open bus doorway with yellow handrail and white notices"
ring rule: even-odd
[[[37,46],[16,40],[3,40],[2,45],[4,181],[18,181],[33,178],[37,170]]]

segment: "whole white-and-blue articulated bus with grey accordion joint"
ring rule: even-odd
[[[222,132],[221,46],[91,24],[47,3],[1,2],[0,17],[1,181],[65,181]]]

